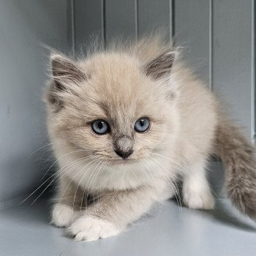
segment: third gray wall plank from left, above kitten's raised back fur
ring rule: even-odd
[[[172,34],[170,0],[138,0],[138,35],[150,34],[155,29],[165,29]]]

